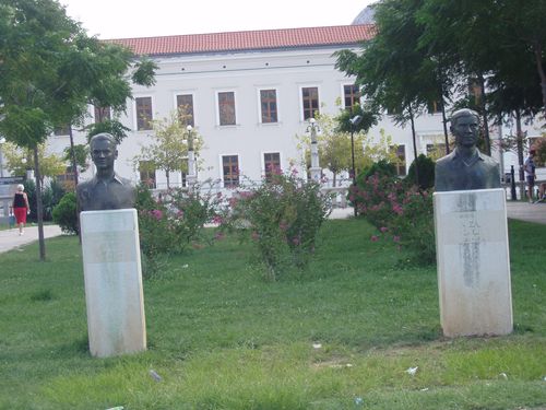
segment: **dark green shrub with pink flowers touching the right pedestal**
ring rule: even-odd
[[[430,191],[395,176],[371,175],[363,178],[349,194],[358,204],[358,213],[375,225],[380,235],[391,237],[410,250],[420,262],[436,259],[432,196]]]

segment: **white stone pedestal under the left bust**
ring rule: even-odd
[[[80,214],[91,354],[146,349],[136,210]]]

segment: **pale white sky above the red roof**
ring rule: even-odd
[[[351,24],[372,0],[59,0],[102,39]]]

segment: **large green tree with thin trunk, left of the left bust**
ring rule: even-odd
[[[34,151],[40,259],[45,259],[38,145],[56,127],[81,124],[87,104],[126,109],[130,81],[150,85],[155,65],[88,37],[55,0],[0,3],[0,133]],[[132,71],[132,77],[130,75]]]

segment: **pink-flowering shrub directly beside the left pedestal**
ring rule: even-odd
[[[141,184],[136,190],[140,245],[149,270],[153,273],[164,255],[180,254],[203,239],[205,223],[217,219],[221,195],[173,188],[161,199]]]

